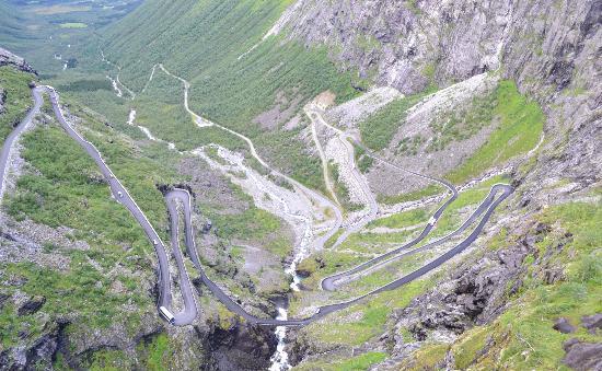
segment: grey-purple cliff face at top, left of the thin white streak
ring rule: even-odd
[[[510,1],[301,0],[280,28],[336,45],[362,77],[410,93],[497,69],[511,13]]]

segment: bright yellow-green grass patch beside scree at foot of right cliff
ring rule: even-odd
[[[447,175],[451,182],[465,182],[512,156],[526,153],[540,140],[545,120],[540,105],[521,95],[513,81],[501,81],[495,94],[494,114],[500,124],[483,147]]]

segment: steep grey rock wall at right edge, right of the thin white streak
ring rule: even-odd
[[[592,139],[602,132],[601,16],[595,1],[517,4],[516,31],[503,53],[506,73],[542,103],[551,150],[528,181],[570,176],[591,184],[600,177],[602,151]]]

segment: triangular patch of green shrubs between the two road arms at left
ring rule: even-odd
[[[23,136],[22,142],[23,158],[39,174],[19,178],[19,193],[8,202],[10,215],[53,228],[73,228],[97,243],[148,244],[127,209],[111,199],[95,163],[62,129],[38,128]]]

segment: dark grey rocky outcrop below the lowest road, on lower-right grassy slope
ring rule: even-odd
[[[521,277],[526,271],[522,264],[525,256],[536,252],[535,244],[543,241],[547,231],[548,227],[541,223],[521,225],[516,233],[522,236],[508,247],[487,252],[476,259],[468,258],[449,275],[445,283],[396,311],[392,318],[395,328],[409,328],[417,341],[449,340],[466,328],[496,318],[505,310],[508,295],[521,287]],[[563,246],[558,244],[555,248],[562,250]],[[549,256],[541,259],[547,262]],[[385,338],[394,345],[393,359],[404,358],[416,347],[415,343],[398,335]]]

